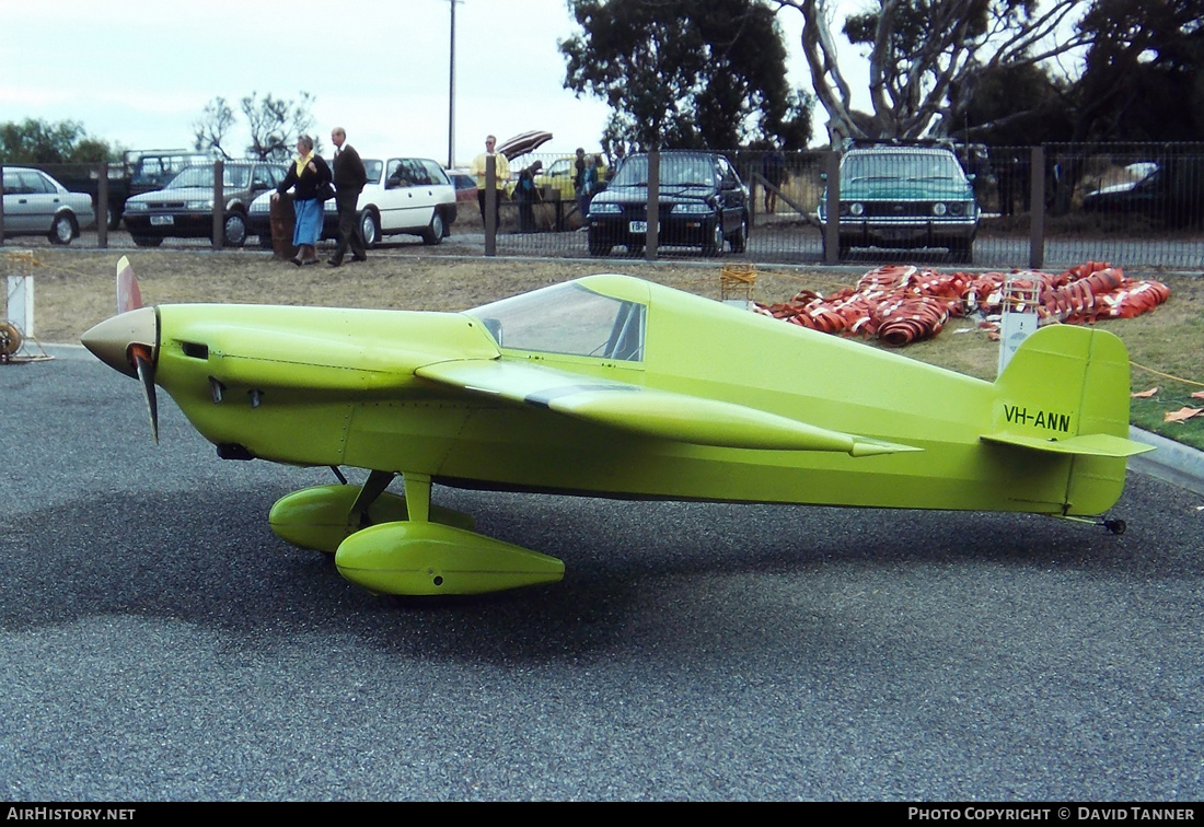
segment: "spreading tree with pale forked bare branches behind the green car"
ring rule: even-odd
[[[1091,0],[870,0],[843,28],[868,51],[869,113],[852,108],[832,35],[834,2],[768,1],[803,16],[811,84],[828,116],[830,140],[843,143],[952,132],[981,79],[998,81],[1084,46],[1087,34],[1072,24]]]

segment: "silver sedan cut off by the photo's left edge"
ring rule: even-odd
[[[41,170],[4,167],[5,237],[46,236],[55,244],[70,244],[95,221],[87,193],[71,193]]]

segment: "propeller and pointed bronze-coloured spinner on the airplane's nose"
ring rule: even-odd
[[[154,370],[159,319],[153,307],[142,307],[134,268],[123,255],[117,262],[117,315],[105,319],[81,337],[96,359],[114,371],[138,379],[150,414],[150,435],[159,442],[159,402]]]

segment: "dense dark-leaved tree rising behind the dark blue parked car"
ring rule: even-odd
[[[571,0],[565,87],[609,104],[603,144],[802,147],[810,101],[786,83],[773,11],[757,0]]]

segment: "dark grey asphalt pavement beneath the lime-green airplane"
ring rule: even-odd
[[[436,488],[560,584],[373,597],[82,350],[0,366],[0,797],[1204,798],[1204,496],[1110,516]],[[1188,457],[1192,455],[1188,454]],[[1196,457],[1198,460],[1198,457]]]

